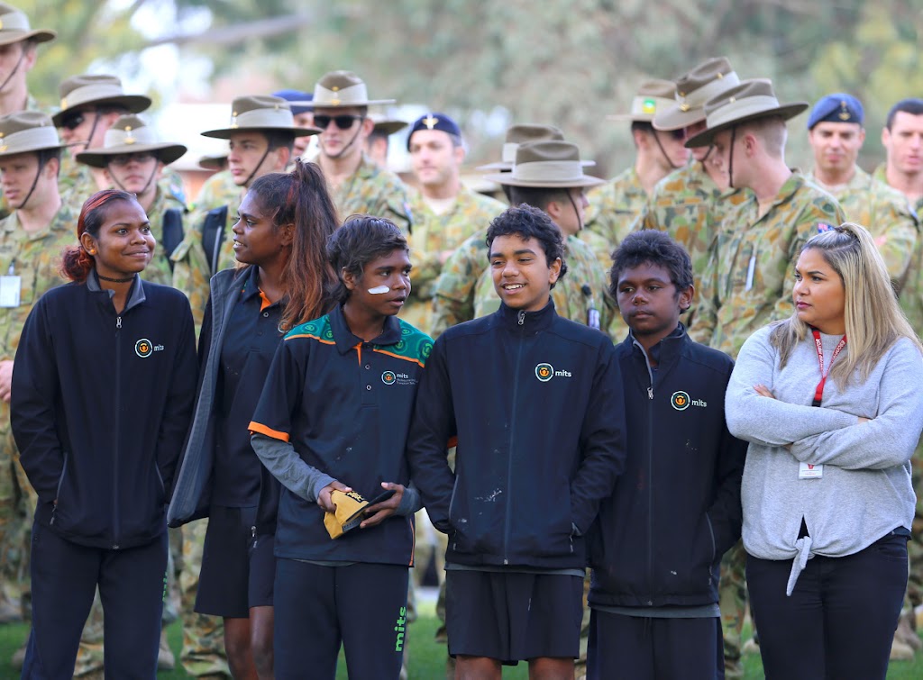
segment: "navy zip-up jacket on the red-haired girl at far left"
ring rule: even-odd
[[[138,277],[125,309],[95,272],[42,295],[26,320],[10,404],[35,520],[73,543],[150,543],[196,396],[183,293]]]

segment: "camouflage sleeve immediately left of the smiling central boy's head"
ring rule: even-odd
[[[484,248],[468,239],[449,256],[433,287],[433,322],[430,335],[474,318],[474,286],[485,268]]]

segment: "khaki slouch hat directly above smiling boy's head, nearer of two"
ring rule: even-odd
[[[605,180],[583,173],[580,149],[562,139],[525,142],[516,149],[512,171],[485,175],[485,180],[507,186],[540,189],[569,189],[605,184]]]

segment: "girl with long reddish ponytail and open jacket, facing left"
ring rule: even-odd
[[[338,224],[314,163],[264,175],[233,228],[234,256],[245,266],[210,282],[198,403],[168,519],[209,518],[196,611],[224,619],[234,677],[272,677],[273,666],[280,486],[250,446],[247,425],[282,335],[330,306],[336,278],[325,248]]]

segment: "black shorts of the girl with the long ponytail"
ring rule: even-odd
[[[198,574],[196,611],[248,618],[250,555],[257,507],[212,506]]]

